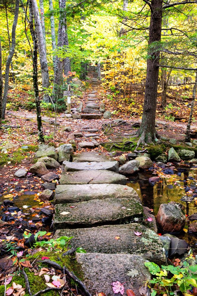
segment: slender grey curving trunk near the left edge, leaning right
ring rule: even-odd
[[[8,94],[8,86],[9,86],[9,67],[10,67],[10,63],[12,61],[12,57],[14,55],[14,49],[15,49],[15,44],[16,44],[16,26],[17,26],[17,21],[18,21],[18,14],[19,14],[19,0],[16,0],[15,12],[14,12],[14,22],[12,25],[12,46],[11,46],[9,55],[6,60],[4,96],[3,96],[3,103],[2,103],[2,118],[3,119],[5,118],[7,94]]]

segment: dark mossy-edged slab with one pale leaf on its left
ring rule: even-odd
[[[111,184],[108,184],[108,186],[110,185]],[[75,185],[70,186],[76,187]],[[87,185],[78,185],[77,187],[79,186]],[[99,185],[92,184],[90,186]],[[55,229],[74,229],[99,225],[124,224],[131,223],[134,218],[140,218],[142,216],[143,207],[141,202],[135,198],[88,200],[84,202],[68,203],[66,205],[57,204],[55,206],[53,226]]]

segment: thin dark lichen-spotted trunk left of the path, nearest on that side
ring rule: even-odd
[[[33,41],[33,53],[32,53],[33,87],[34,87],[34,94],[35,94],[36,116],[37,116],[37,125],[38,125],[38,141],[44,143],[39,90],[38,90],[38,41],[37,41],[36,32],[34,30],[34,26],[33,26],[32,0],[29,0],[29,14],[30,14],[30,22],[29,22],[30,33]]]

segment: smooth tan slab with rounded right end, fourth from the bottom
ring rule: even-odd
[[[58,185],[55,189],[55,204],[104,200],[106,198],[127,198],[139,201],[138,194],[132,187],[120,184]]]

